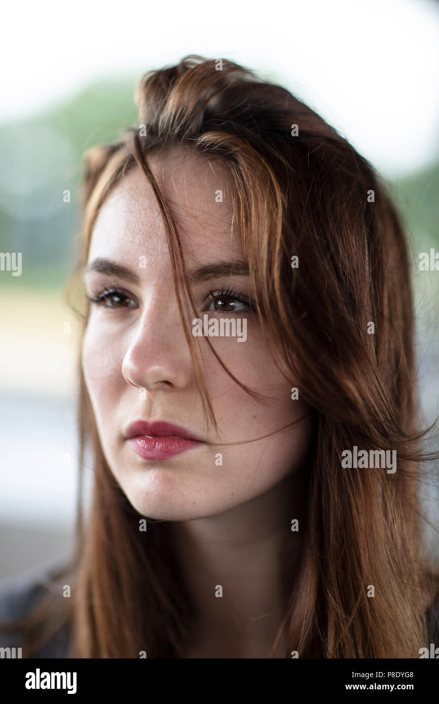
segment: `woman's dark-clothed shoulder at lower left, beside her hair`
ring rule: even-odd
[[[20,657],[17,648],[24,648],[25,635],[22,631],[2,631],[1,626],[13,624],[29,616],[48,592],[52,593],[54,598],[62,598],[62,585],[56,581],[56,577],[66,567],[68,560],[56,560],[38,570],[0,582],[0,648],[6,649],[2,650],[2,657]],[[63,627],[33,657],[68,658],[69,646],[70,629]]]

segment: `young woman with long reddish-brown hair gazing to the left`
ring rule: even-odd
[[[383,182],[232,61],[152,71],[137,105],[139,127],[86,154],[92,508],[73,560],[16,598],[8,618],[24,618],[2,643],[21,634],[25,657],[419,658],[438,597],[418,497],[431,455]]]

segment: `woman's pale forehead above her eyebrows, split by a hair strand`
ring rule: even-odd
[[[183,249],[191,257],[200,249],[222,256],[242,253],[232,237],[233,205],[223,198],[224,167],[187,150],[153,154],[148,159],[161,192],[177,222]],[[212,168],[213,166],[213,168]],[[219,192],[218,192],[219,191]],[[89,259],[117,256],[121,250],[167,254],[166,227],[147,176],[136,165],[114,187],[94,223]]]

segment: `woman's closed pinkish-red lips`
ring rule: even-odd
[[[170,423],[137,420],[125,432],[137,455],[145,460],[168,460],[196,447],[202,440]]]

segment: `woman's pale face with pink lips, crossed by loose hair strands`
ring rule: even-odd
[[[94,226],[85,283],[99,302],[91,306],[82,367],[104,455],[130,503],[155,519],[191,520],[245,503],[294,472],[309,449],[311,417],[303,401],[291,399],[294,379],[278,369],[252,311],[242,245],[231,236],[225,168],[188,149],[149,156],[149,164],[177,218],[197,317],[217,320],[218,332],[221,320],[240,319],[242,339],[209,341],[242,384],[270,397],[254,401],[206,339],[194,337],[218,434],[208,427],[159,206],[136,166]],[[233,262],[243,263],[235,273]]]

